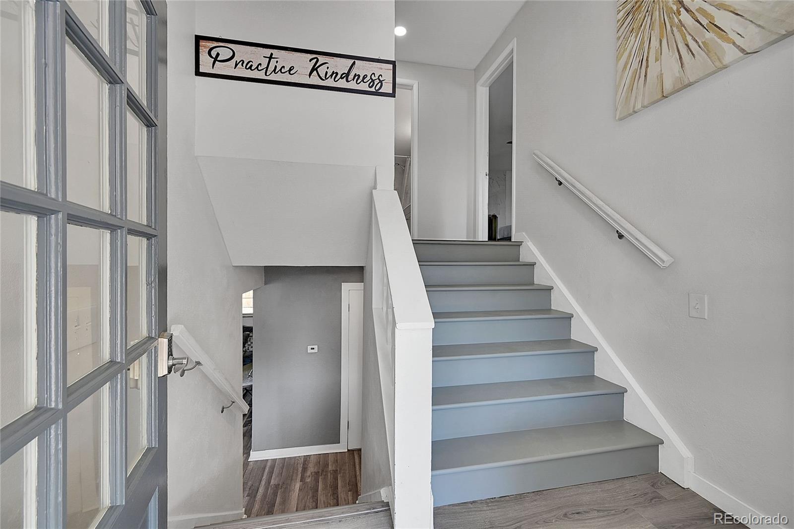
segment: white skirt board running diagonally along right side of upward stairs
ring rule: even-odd
[[[569,311],[575,316],[571,324],[572,338],[598,347],[599,352],[595,353],[595,374],[615,384],[621,384],[628,390],[624,398],[626,421],[664,440],[665,443],[659,446],[659,471],[678,485],[689,488],[690,476],[695,468],[692,453],[684,446],[684,442],[673,431],[634,376],[626,369],[626,365],[620,361],[615,349],[612,349],[592,319],[588,317],[579,303],[576,303],[576,299],[554,273],[538,248],[532,244],[530,238],[525,233],[519,232],[513,235],[513,240],[524,243],[521,246],[522,261],[537,263],[535,265],[535,281],[554,287],[552,291],[554,308]]]

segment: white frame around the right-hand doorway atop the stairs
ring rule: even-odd
[[[512,215],[511,215],[511,236],[515,233],[515,39],[504,48],[493,64],[485,71],[484,75],[477,81],[476,95],[476,139],[475,157],[476,174],[474,182],[475,196],[475,235],[480,241],[488,239],[488,91],[491,84],[499,75],[507,70],[508,66],[513,68],[513,154],[512,154]],[[411,211],[413,214],[413,211]]]

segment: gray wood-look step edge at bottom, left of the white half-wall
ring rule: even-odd
[[[345,519],[353,516],[364,516],[375,512],[389,510],[385,501],[368,501],[362,504],[343,505],[313,509],[310,511],[286,512],[277,515],[254,516],[252,518],[236,519],[230,522],[214,523],[203,527],[217,527],[218,529],[264,529],[270,527],[304,527],[311,522],[329,523],[336,519]]]

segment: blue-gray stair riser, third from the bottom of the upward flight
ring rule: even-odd
[[[592,351],[433,361],[433,387],[538,380],[595,373]]]

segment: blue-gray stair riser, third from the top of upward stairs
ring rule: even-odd
[[[431,290],[427,292],[427,299],[435,312],[551,308],[550,290]]]

